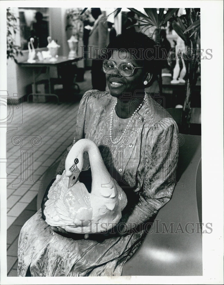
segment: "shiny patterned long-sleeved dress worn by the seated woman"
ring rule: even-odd
[[[109,92],[87,91],[80,102],[74,142],[82,138],[94,141],[111,176],[125,191],[128,204],[117,227],[122,234],[76,240],[51,236],[40,209],[20,232],[18,276],[25,276],[29,266],[32,276],[119,276],[146,235],[139,225],[153,220],[170,200],[178,161],[175,121],[148,95],[125,137],[112,144],[110,118],[116,101]],[[129,118],[121,119],[114,113],[114,141],[128,122]],[[63,170],[64,160],[57,174]]]

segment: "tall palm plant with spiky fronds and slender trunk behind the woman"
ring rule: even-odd
[[[120,8],[118,8],[120,9]],[[186,58],[186,84],[185,84],[185,100],[181,118],[181,132],[189,133],[190,129],[190,110],[191,110],[191,96],[196,87],[197,78],[199,76],[199,65],[200,59],[197,53],[197,43],[200,38],[200,10],[196,8],[186,8],[186,14],[176,15],[178,8],[168,9],[164,14],[164,8],[159,10],[155,8],[144,8],[146,13],[138,11],[134,8],[128,8],[140,17],[139,24],[137,27],[149,28],[155,27],[154,32],[156,33],[156,43],[160,43],[160,30],[162,25],[166,24],[167,21],[172,23],[172,27],[175,32],[184,40],[187,47],[188,57]],[[161,76],[160,76],[161,84]]]

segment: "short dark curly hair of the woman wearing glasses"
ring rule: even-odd
[[[113,50],[125,50],[132,54],[144,66],[144,72],[152,74],[151,83],[157,77],[161,67],[161,57],[159,54],[160,50],[152,37],[142,32],[127,31],[117,35],[113,42],[109,43],[107,46],[107,59],[112,56]]]

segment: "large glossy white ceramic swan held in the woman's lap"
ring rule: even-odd
[[[78,180],[84,152],[89,155],[91,193]],[[125,193],[111,178],[99,148],[89,139],[81,139],[72,146],[65,170],[57,175],[48,199],[44,209],[46,222],[72,233],[99,233],[111,229],[121,219],[121,211],[127,205]]]

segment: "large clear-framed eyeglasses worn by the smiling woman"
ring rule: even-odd
[[[103,61],[103,72],[105,74],[111,74],[115,68],[118,69],[122,76],[129,77],[133,75],[135,68],[143,68],[143,66],[134,67],[130,62],[122,62],[116,65],[112,60]]]

